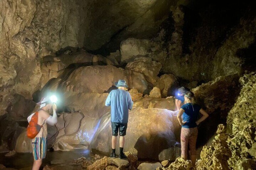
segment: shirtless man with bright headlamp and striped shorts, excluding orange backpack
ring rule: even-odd
[[[42,100],[37,103],[40,104],[40,110],[38,110],[38,125],[42,125],[37,136],[32,139],[32,150],[34,157],[34,164],[32,170],[38,170],[42,165],[42,159],[46,156],[47,150],[47,124],[55,125],[58,122],[58,117],[56,114],[57,106],[52,103],[49,97],[43,97]],[[53,116],[50,116],[49,111],[53,109]],[[27,121],[30,122],[32,116],[35,113],[32,113],[28,116]]]

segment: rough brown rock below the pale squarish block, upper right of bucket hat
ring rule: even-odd
[[[138,57],[134,61],[128,63],[125,68],[143,73],[146,76],[146,80],[154,85],[158,80],[157,75],[162,68],[162,65],[161,63],[152,61],[151,58]]]

